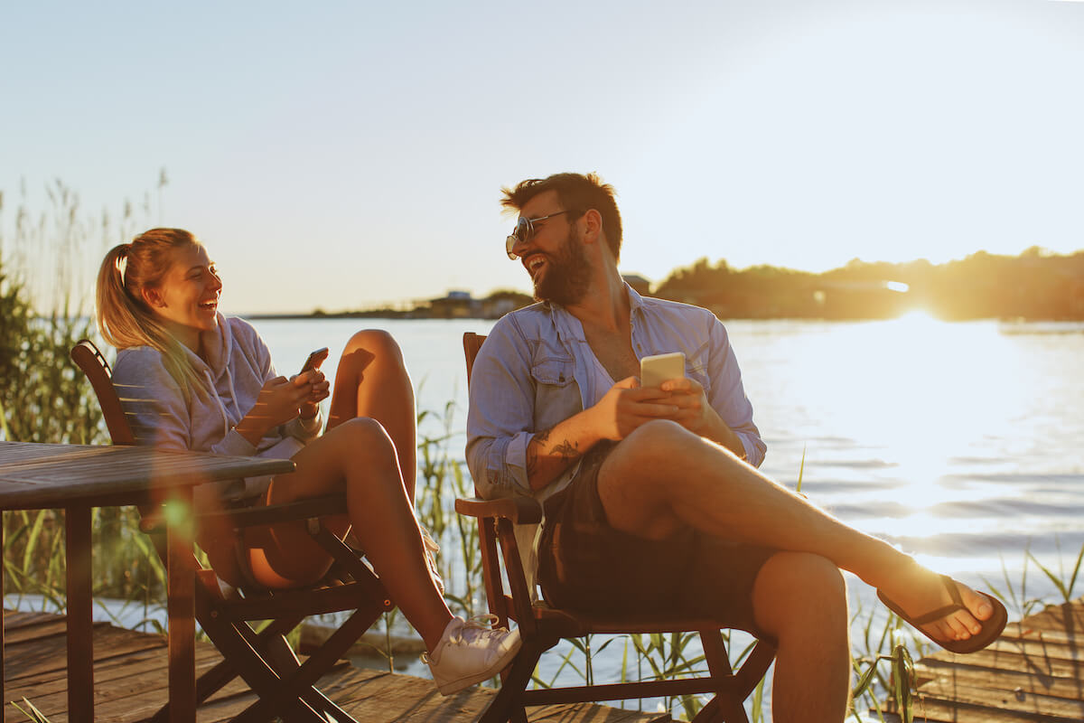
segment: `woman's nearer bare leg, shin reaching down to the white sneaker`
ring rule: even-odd
[[[295,454],[294,462],[297,472],[274,479],[268,503],[319,496],[345,486],[347,516],[365,556],[433,650],[452,614],[429,576],[396,447],[384,427],[370,418],[340,423]],[[258,581],[270,586],[306,584],[326,570],[328,555],[309,537],[305,522],[278,525],[270,538],[272,544],[253,551]]]

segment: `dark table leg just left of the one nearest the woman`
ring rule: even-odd
[[[91,617],[90,506],[64,512],[67,534],[68,720],[94,720],[94,623]]]

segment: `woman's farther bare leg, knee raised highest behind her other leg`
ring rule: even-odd
[[[414,388],[399,345],[387,332],[358,332],[343,350],[327,429],[354,417],[376,419],[387,430],[396,447],[406,495],[413,502],[417,478]]]

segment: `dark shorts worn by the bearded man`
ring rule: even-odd
[[[609,526],[598,470],[612,443],[593,448],[567,488],[545,501],[539,581],[557,607],[608,615],[710,618],[757,632],[752,585],[775,550],[684,528],[662,541]]]

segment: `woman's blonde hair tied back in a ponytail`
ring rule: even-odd
[[[199,242],[183,229],[151,229],[130,244],[114,246],[98,272],[96,317],[102,338],[117,349],[147,346],[165,358],[166,369],[185,388],[198,377],[184,349],[143,298],[157,288],[173,263],[173,253]]]

